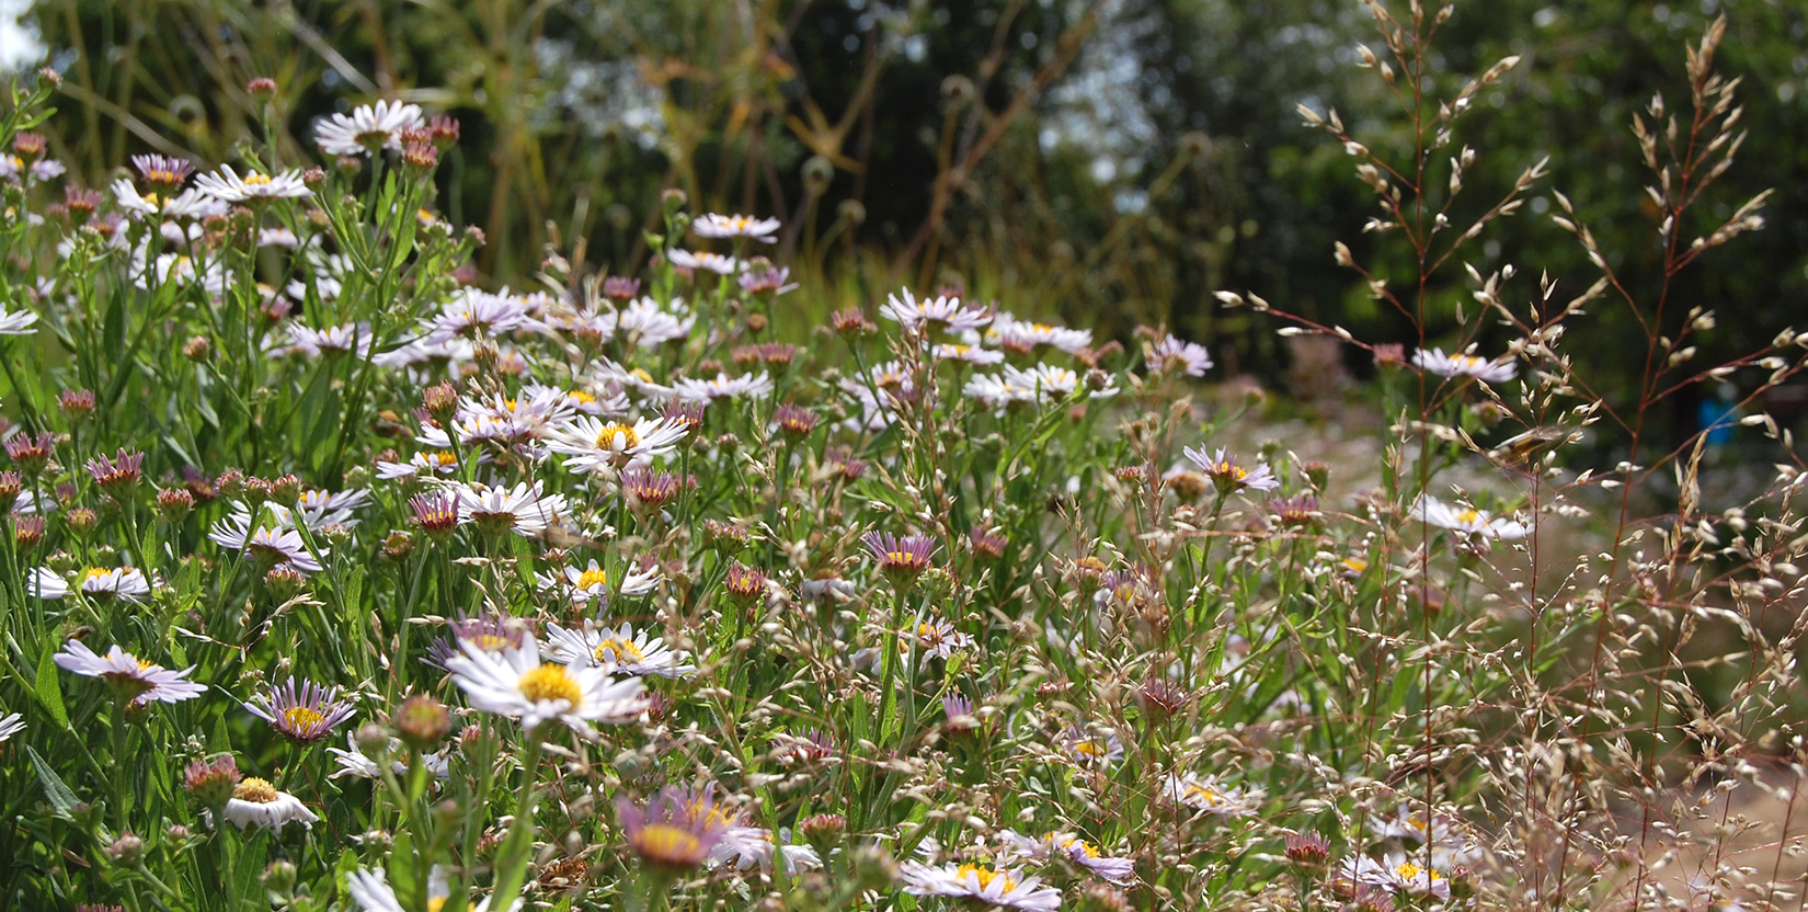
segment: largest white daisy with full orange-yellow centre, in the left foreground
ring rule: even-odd
[[[595,735],[593,722],[633,722],[647,709],[640,679],[615,680],[600,666],[541,662],[532,637],[519,648],[485,651],[470,642],[447,659],[452,682],[470,706],[519,718],[524,729],[562,722],[579,735]]]

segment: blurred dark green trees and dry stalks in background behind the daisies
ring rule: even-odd
[[[1459,128],[1479,152],[1472,204],[1549,156],[1548,188],[1643,293],[1662,261],[1631,116],[1654,92],[1687,103],[1681,49],[1721,13],[1748,141],[1683,235],[1775,195],[1768,230],[1678,286],[1723,317],[1703,360],[1768,340],[1808,293],[1808,7],[1464,2],[1434,60],[1448,89],[1522,58]],[[1416,342],[1332,262],[1343,239],[1381,273],[1407,268],[1399,244],[1361,233],[1372,195],[1343,150],[1295,114],[1334,107],[1370,148],[1407,141],[1352,71],[1376,43],[1354,0],[40,0],[31,16],[69,80],[54,141],[92,185],[128,152],[230,159],[259,128],[253,76],[280,83],[295,157],[315,156],[315,118],[374,98],[456,116],[448,215],[486,230],[497,280],[532,275],[548,226],[633,270],[660,190],[680,186],[703,210],[785,219],[799,275],[837,304],[958,277],[1106,331],[1166,322],[1264,378],[1285,362],[1273,326],[1213,308],[1213,290]],[[1596,275],[1544,190],[1475,261],[1513,262],[1524,300],[1540,271],[1573,291]],[[1436,344],[1468,288],[1452,271],[1432,291]],[[1633,317],[1604,302],[1591,320],[1609,340]],[[1642,356],[1586,351],[1625,376]]]

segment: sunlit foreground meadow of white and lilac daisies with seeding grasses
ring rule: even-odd
[[[1808,476],[1759,404],[1808,335],[1696,366],[1737,315],[1627,291],[1562,174],[1470,204],[1517,60],[1421,98],[1450,7],[1370,9],[1412,152],[1300,118],[1417,337],[1201,290],[1374,362],[1361,461],[1170,328],[850,299],[676,190],[645,262],[479,280],[414,103],[81,188],[18,80],[0,908],[1797,908]],[[1763,226],[1721,36],[1633,123],[1665,277]],[[1591,284],[1472,266],[1533,188]],[[1714,384],[1788,454],[1750,490],[1647,434]]]

